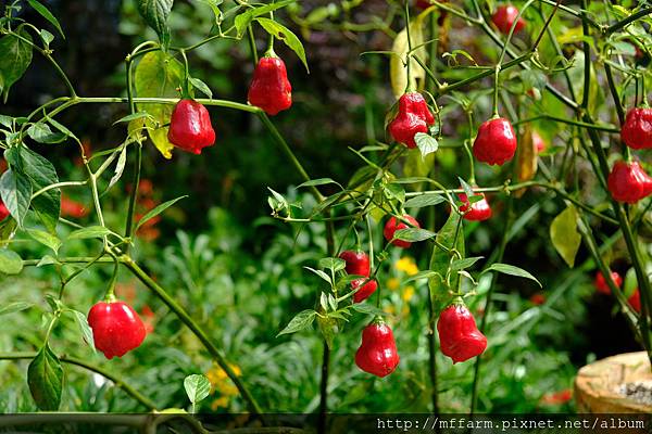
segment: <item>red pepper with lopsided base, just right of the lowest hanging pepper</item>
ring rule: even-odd
[[[487,337],[478,330],[466,306],[455,303],[443,309],[437,321],[441,353],[453,363],[479,356],[487,348]]]

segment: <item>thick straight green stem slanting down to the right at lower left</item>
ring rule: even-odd
[[[251,392],[249,392],[249,388],[247,388],[247,386],[242,383],[240,378],[234,372],[230,365],[226,361],[226,358],[224,357],[222,352],[215,346],[215,344],[213,344],[213,342],[206,335],[206,333],[203,331],[203,329],[201,327],[199,327],[197,324],[197,322],[195,322],[195,320],[190,317],[190,315],[188,315],[188,312],[170,294],[167,294],[167,292],[161,285],[159,285],[156,282],[154,282],[152,280],[152,278],[150,278],[147,275],[147,272],[145,272],[142,270],[142,268],[140,268],[138,266],[138,264],[136,264],[130,257],[123,256],[122,263],[125,265],[125,267],[129,271],[131,271],[131,273],[136,278],[138,278],[138,280],[140,280],[159,298],[161,298],[161,301],[163,301],[163,303],[165,303],[165,305],[172,311],[175,312],[175,315],[181,320],[181,322],[184,322],[184,324],[186,324],[188,327],[188,329],[190,329],[190,331],[192,331],[192,333],[201,341],[203,346],[211,354],[213,359],[217,362],[220,368],[222,368],[224,370],[226,375],[230,379],[230,381],[238,388],[238,391],[240,392],[240,395],[247,401],[249,411],[251,411],[252,413],[254,413],[263,419],[262,410],[261,410],[261,407],[259,406],[258,401],[251,395]]]

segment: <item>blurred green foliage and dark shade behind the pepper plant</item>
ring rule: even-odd
[[[134,0],[52,0],[48,5],[60,17],[67,35],[65,41],[54,42],[55,55],[79,92],[87,97],[124,94],[124,55],[145,38],[155,39],[139,17]],[[277,46],[277,53],[288,66],[294,104],[275,117],[274,123],[313,178],[331,177],[346,182],[361,166],[361,161],[347,146],[361,148],[385,139],[385,112],[394,101],[388,62],[384,56],[361,56],[361,53],[391,48],[402,26],[400,20],[394,18],[397,8],[385,0],[335,1],[326,5],[323,1],[304,0],[278,13],[302,37],[311,72],[306,74],[293,53]],[[42,20],[29,10],[24,13],[30,21]],[[528,12],[527,18],[535,23],[541,20],[536,9]],[[201,2],[176,1],[170,24],[174,43],[188,46],[205,37],[212,15]],[[478,64],[496,59],[497,50],[485,36],[461,22],[453,21],[452,25],[454,31],[449,34],[448,51],[463,48]],[[566,35],[572,30],[570,25],[565,18],[556,20],[552,30]],[[262,33],[256,31],[256,42],[263,51],[265,36]],[[525,41],[516,43],[526,47]],[[547,52],[550,43],[541,47],[546,63],[553,54]],[[568,56],[575,55],[573,43],[564,47]],[[215,98],[246,101],[253,71],[247,43],[216,40],[192,51],[189,61],[192,75],[205,81]],[[467,62],[462,58],[459,61]],[[447,60],[441,58],[441,62]],[[577,73],[579,71],[569,71],[574,77]],[[468,69],[451,68],[442,79],[455,80],[468,74]],[[505,73],[504,92],[515,99],[518,117],[527,117],[534,110],[524,94],[527,80],[531,77],[517,68]],[[475,90],[456,95],[476,101],[476,125],[482,116],[489,115],[490,99],[486,92],[489,86],[476,86]],[[35,64],[14,87],[2,112],[24,114],[63,91],[49,66],[35,56]],[[602,90],[597,88],[595,92],[595,104],[603,104]],[[456,186],[457,176],[468,173],[466,158],[455,149],[466,137],[468,126],[464,112],[454,101],[442,103],[443,136],[448,139],[442,140],[442,150],[430,163],[436,167],[437,179],[452,187]],[[536,104],[549,112],[559,110],[557,103],[546,95]],[[126,106],[121,105],[77,106],[62,115],[60,122],[83,138],[90,152],[97,152],[122,140],[123,128],[111,125],[126,114],[125,110]],[[305,208],[311,207],[313,200],[291,187],[300,182],[297,174],[288,169],[285,156],[256,118],[226,108],[211,108],[211,114],[217,142],[201,156],[175,152],[173,158],[166,161],[153,146],[147,146],[146,181],[139,195],[141,212],[183,194],[190,197],[141,229],[135,255],[156,281],[205,326],[265,410],[314,411],[318,406],[319,334],[304,331],[275,336],[296,312],[313,307],[319,281],[302,266],[314,265],[324,256],[324,228],[318,224],[283,225],[267,217],[267,187],[302,202]],[[602,120],[609,123],[614,118]],[[556,151],[570,140],[570,132],[544,122],[536,123],[536,128],[550,146],[544,158],[553,161]],[[54,163],[60,178],[84,176],[75,146],[34,145],[33,149]],[[397,166],[394,170],[409,176],[413,168]],[[480,184],[498,184],[497,175],[493,168],[478,167]],[[123,199],[130,189],[128,179],[125,177],[118,184],[122,191],[114,189],[104,197],[109,226],[124,225],[126,202]],[[82,208],[90,205],[89,197],[76,190],[65,193],[68,203],[79,204]],[[507,218],[505,197],[496,194],[489,199],[493,218],[465,227],[467,252],[472,256],[490,256]],[[602,200],[599,195],[591,199],[594,203]],[[586,252],[580,248],[577,266],[568,269],[551,246],[549,225],[563,208],[562,201],[537,190],[514,202],[517,225],[504,261],[537,276],[543,290],[539,291],[530,281],[499,278],[497,303],[487,333],[490,345],[479,388],[481,411],[572,410],[572,381],[578,367],[595,358],[638,349],[625,322],[615,312],[612,299],[595,293],[591,282],[593,265],[587,260]],[[86,214],[73,207],[68,218],[91,221]],[[428,218],[438,227],[447,215],[446,207],[439,205]],[[343,229],[338,228],[339,237],[343,237]],[[378,242],[379,232],[376,229]],[[354,240],[349,240],[344,247],[353,243]],[[14,246],[23,257],[39,258],[48,253],[27,241],[16,242]],[[90,243],[79,241],[66,244],[62,254],[84,256],[93,252]],[[623,252],[617,242],[613,246],[613,268],[624,275],[627,258]],[[426,246],[416,244],[406,252],[393,250],[379,275],[379,284],[384,288],[383,308],[392,315],[401,356],[394,374],[378,380],[355,367],[353,354],[365,326],[363,316],[355,317],[338,335],[331,357],[333,411],[425,412],[429,409],[427,286],[424,281],[402,283],[405,277],[426,268],[428,255]],[[111,268],[95,266],[76,279],[66,290],[66,304],[86,312],[103,295]],[[43,295],[55,292],[58,282],[53,267],[32,267],[18,277],[2,278],[2,301],[28,301],[40,308],[2,318],[0,352],[34,350],[38,346],[42,335],[41,314],[47,307]],[[124,375],[160,408],[186,407],[183,379],[190,373],[205,373],[214,387],[210,398],[201,404],[203,411],[244,410],[244,404],[224,372],[211,363],[195,336],[174,316],[167,315],[166,307],[127,273],[121,273],[118,282],[118,296],[133,303],[148,322],[151,333],[145,344],[122,359],[106,361],[82,344],[71,317],[65,318],[64,327],[53,334],[54,350]],[[488,283],[487,280],[480,282],[480,294],[488,290]],[[476,317],[482,314],[478,311],[481,298],[469,299]],[[453,367],[448,358],[439,356],[441,410],[466,411],[474,365],[469,361]],[[1,411],[36,409],[25,381],[26,363],[0,362]],[[71,366],[65,368],[62,410],[141,409],[99,375]]]

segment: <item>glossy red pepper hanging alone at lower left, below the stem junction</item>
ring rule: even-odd
[[[88,312],[95,346],[108,359],[140,346],[147,334],[142,320],[123,302],[99,302]]]

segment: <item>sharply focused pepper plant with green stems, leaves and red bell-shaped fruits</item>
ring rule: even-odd
[[[309,189],[316,200],[312,208],[292,203],[271,190],[272,216],[292,225],[325,225],[326,251],[317,264],[306,264],[308,272],[323,284],[315,288],[314,307],[297,312],[279,335],[300,332],[316,322],[323,335],[319,430],[325,429],[328,409],[330,363],[356,363],[363,371],[391,381],[401,369],[401,342],[396,342],[391,316],[383,309],[384,289],[379,277],[392,250],[425,252],[427,269],[409,278],[427,293],[423,307],[428,328],[430,391],[432,410],[438,411],[436,353],[439,348],[452,362],[475,363],[469,411],[477,407],[481,355],[491,355],[491,335],[485,335],[491,320],[498,273],[539,281],[518,264],[505,264],[503,257],[517,229],[514,203],[524,194],[565,206],[550,224],[551,242],[564,261],[573,267],[584,243],[601,280],[601,291],[611,291],[628,319],[632,333],[652,359],[652,290],[650,248],[640,232],[650,226],[652,179],[647,175],[645,157],[651,146],[650,108],[647,104],[652,37],[645,30],[652,8],[645,2],[624,5],[582,0],[579,7],[562,1],[528,0],[518,4],[467,0],[447,2],[424,0],[387,1],[388,20],[353,26],[349,12],[364,2],[341,1],[335,12],[321,20],[302,20],[301,8],[292,0],[269,3],[235,0],[201,0],[208,4],[214,23],[206,37],[188,47],[177,47],[167,27],[173,0],[139,0],[142,18],[158,40],[146,40],[125,59],[125,97],[84,97],[68,79],[65,67],[50,48],[54,38],[63,38],[57,17],[37,0],[14,1],[5,5],[0,21],[0,85],[4,100],[32,63],[41,55],[60,77],[67,94],[57,97],[23,116],[0,117],[3,138],[0,145],[8,169],[0,178],[0,271],[20,273],[24,267],[53,267],[60,275],[60,288],[47,295],[43,306],[46,331],[35,353],[0,355],[7,359],[32,359],[27,383],[39,408],[57,410],[61,401],[64,369],[62,363],[85,367],[111,374],[102,367],[66,357],[50,337],[62,316],[72,315],[85,341],[108,358],[138,350],[145,337],[143,324],[126,304],[116,301],[114,288],[120,269],[133,273],[161,299],[201,342],[211,358],[226,372],[252,413],[262,413],[254,394],[234,372],[223,350],[202,326],[136,260],[137,229],[171,206],[177,197],[160,204],[137,219],[136,195],[142,166],[142,148],[154,145],[163,156],[191,152],[201,158],[210,146],[225,139],[211,125],[211,112],[237,110],[256,116],[296,170],[298,189]],[[515,2],[516,3],[516,2]],[[18,14],[32,8],[48,23],[39,28]],[[291,110],[291,85],[283,60],[274,51],[284,43],[308,68],[309,60],[300,39],[277,16],[287,9],[290,21],[302,30],[329,25],[347,30],[380,29],[394,36],[391,50],[361,53],[387,56],[389,79],[397,103],[388,106],[383,137],[362,149],[351,148],[360,157],[361,168],[350,179],[313,178],[297,158],[292,146],[276,129],[268,115]],[[339,12],[343,18],[336,20]],[[276,15],[276,16],[275,16]],[[314,15],[317,16],[317,15]],[[333,22],[327,22],[334,16]],[[452,23],[469,26],[478,37],[487,37],[496,49],[490,64],[480,65],[474,55],[448,46]],[[290,26],[291,27],[291,26]],[[255,34],[267,35],[267,49],[258,59]],[[565,36],[562,38],[560,35]],[[192,76],[192,52],[223,39],[250,46],[255,65],[248,101],[213,98],[212,90]],[[290,76],[299,72],[290,71]],[[459,78],[463,73],[464,78]],[[578,78],[577,78],[578,77]],[[606,85],[607,102],[598,104]],[[488,91],[487,91],[488,90]],[[199,98],[203,94],[205,98]],[[115,119],[124,140],[117,146],[88,156],[74,126],[60,123],[58,115],[76,105],[120,104],[125,115]],[[606,107],[598,112],[601,107]],[[465,133],[449,135],[447,117],[463,113]],[[542,126],[550,126],[546,131]],[[560,128],[563,126],[564,128]],[[109,128],[109,126],[108,126]],[[543,139],[542,139],[543,137]],[[546,143],[548,141],[548,143]],[[42,145],[66,143],[79,149],[86,176],[84,180],[61,180],[54,165],[40,155]],[[543,145],[541,145],[543,142]],[[39,143],[39,144],[37,144]],[[438,171],[438,153],[450,148],[459,161],[454,184],[446,184]],[[202,150],[203,151],[202,153]],[[335,154],[337,155],[337,154]],[[171,163],[173,164],[173,163]],[[586,194],[579,167],[587,164],[599,189]],[[125,199],[123,227],[106,225],[104,193],[125,182],[130,175],[131,193]],[[162,186],[164,187],[164,186]],[[80,226],[60,216],[61,191],[88,189],[92,197],[95,224]],[[487,196],[490,195],[489,200]],[[499,208],[500,213],[492,210]],[[434,216],[443,220],[436,225]],[[488,257],[467,252],[465,233],[469,225],[502,219],[504,230]],[[522,225],[523,226],[523,225]],[[70,228],[63,238],[61,228]],[[12,250],[16,237],[28,237],[51,248],[51,254],[22,258]],[[606,235],[606,237],[603,237]],[[607,239],[605,242],[604,239]],[[623,239],[632,272],[632,290],[627,293],[610,271],[606,253],[615,240]],[[65,255],[66,243],[87,240],[97,250],[95,256]],[[90,306],[68,306],[66,285],[90,267],[109,267],[112,279],[105,297],[87,316]],[[617,275],[616,275],[617,276]],[[478,290],[480,280],[489,289]],[[539,283],[541,284],[541,283]],[[627,285],[626,285],[627,286]],[[629,288],[628,286],[628,288]],[[638,298],[632,298],[638,294]],[[484,309],[479,327],[466,307],[472,297],[481,297]],[[635,302],[637,299],[638,302]],[[32,308],[23,302],[2,306],[3,312]],[[416,314],[415,314],[416,315]],[[330,350],[351,317],[365,318],[368,326],[361,346],[348,360],[331,360]],[[122,330],[116,335],[112,330]],[[435,333],[438,331],[438,334]],[[150,336],[147,339],[155,339]],[[247,357],[247,355],[241,355]],[[454,368],[453,368],[454,369]],[[128,373],[127,373],[128,374]],[[111,376],[110,376],[111,378]],[[196,393],[192,378],[186,388],[192,391],[195,405],[203,392]],[[155,405],[121,382],[122,387],[148,409]],[[193,385],[195,384],[195,385]],[[203,387],[202,387],[203,388]]]

